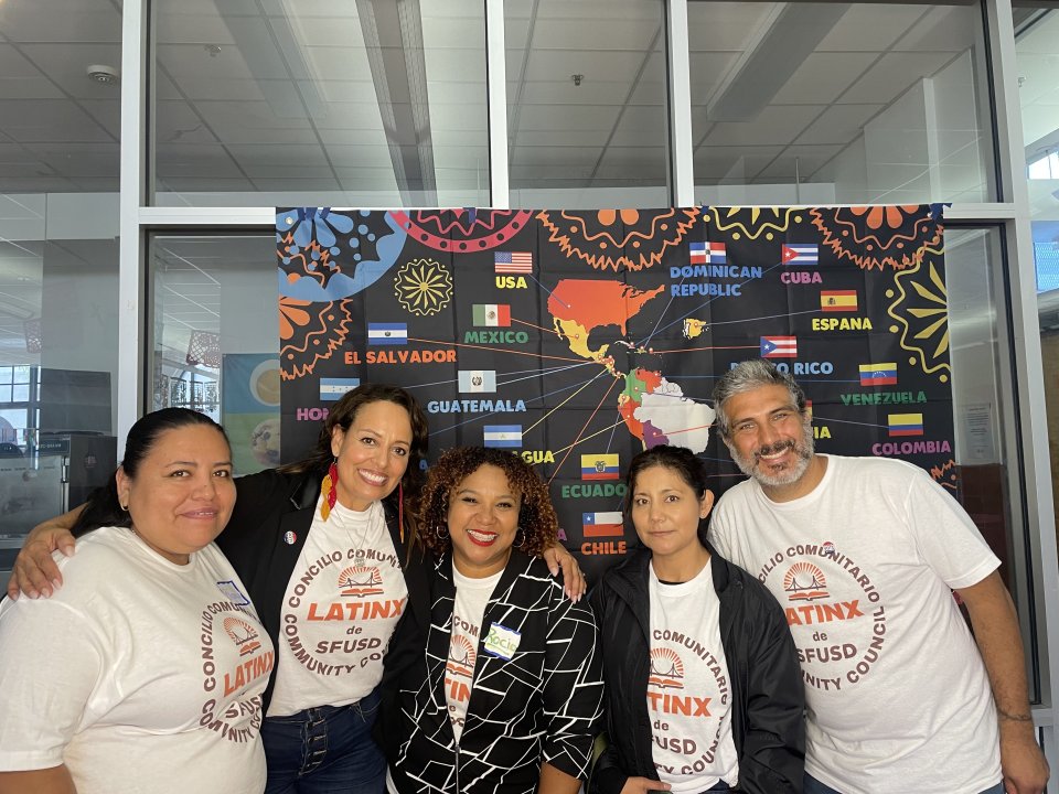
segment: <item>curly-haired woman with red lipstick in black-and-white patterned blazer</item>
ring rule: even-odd
[[[429,603],[406,610],[386,661],[388,790],[577,792],[602,684],[591,610],[537,557],[558,528],[547,487],[510,452],[450,450],[420,514],[434,576],[409,592]]]

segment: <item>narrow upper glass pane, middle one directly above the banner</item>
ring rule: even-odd
[[[664,12],[504,3],[512,206],[668,206]]]

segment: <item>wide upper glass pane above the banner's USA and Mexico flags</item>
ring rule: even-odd
[[[153,7],[156,204],[489,204],[483,3]]]

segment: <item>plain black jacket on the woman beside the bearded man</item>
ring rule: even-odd
[[[801,794],[805,695],[794,642],[780,605],[752,576],[713,548],[720,599],[720,640],[731,685],[731,733],[738,791]],[[610,744],[597,762],[592,792],[618,793],[629,777],[659,780],[648,715],[651,554],[630,552],[590,596],[599,624]]]

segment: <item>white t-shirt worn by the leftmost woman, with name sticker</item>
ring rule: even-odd
[[[272,644],[224,555],[179,566],[104,527],[55,559],[52,598],[0,604],[0,770],[65,764],[78,794],[263,792]]]

